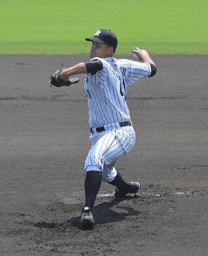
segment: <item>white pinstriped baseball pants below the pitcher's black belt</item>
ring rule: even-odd
[[[106,128],[106,127],[105,127]],[[97,170],[103,172],[104,182],[112,182],[116,177],[114,166],[118,160],[129,153],[135,145],[135,130],[131,126],[109,127],[107,131],[90,135],[92,148],[85,161],[86,172]]]

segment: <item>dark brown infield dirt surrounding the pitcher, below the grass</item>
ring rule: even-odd
[[[157,75],[128,91],[137,140],[117,167],[140,193],[116,201],[102,184],[82,231],[85,76],[47,81],[88,56],[1,56],[1,255],[207,255],[207,56],[152,57]]]

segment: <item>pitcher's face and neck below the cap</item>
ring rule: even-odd
[[[112,54],[112,49],[110,48],[112,47],[110,47],[108,44],[92,42],[90,57],[110,57]]]

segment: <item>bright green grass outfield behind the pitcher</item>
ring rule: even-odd
[[[0,54],[87,54],[100,28],[118,54],[208,54],[207,0],[0,0]]]

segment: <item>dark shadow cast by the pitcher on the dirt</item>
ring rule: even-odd
[[[132,199],[125,199],[132,200]],[[94,207],[94,219],[96,224],[114,223],[117,221],[124,221],[127,216],[138,216],[141,214],[138,210],[129,206],[118,206],[121,200],[113,200],[112,202],[103,202]],[[117,205],[117,206],[116,206]],[[116,211],[112,208],[116,206]],[[73,227],[80,228],[80,216],[72,217],[68,220]]]

